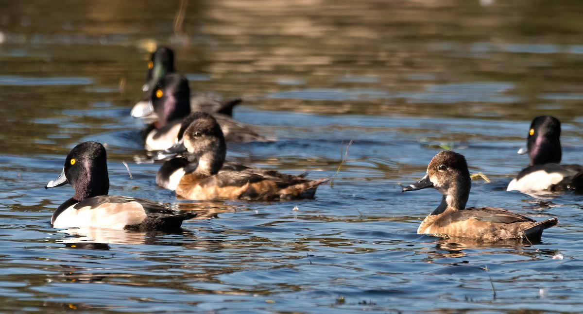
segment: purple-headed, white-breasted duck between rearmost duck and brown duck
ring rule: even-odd
[[[144,112],[154,111],[158,117],[142,132],[146,150],[164,150],[177,142],[182,119],[191,112],[189,93],[188,80],[177,73],[165,75],[156,84],[150,110]],[[227,142],[272,142],[227,115],[213,114],[213,117],[219,122]]]

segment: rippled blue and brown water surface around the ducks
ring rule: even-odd
[[[504,191],[537,115],[583,163],[581,1],[0,5],[0,311],[583,312],[583,196]],[[192,90],[242,97],[234,118],[278,139],[229,160],[333,184],[274,203],[156,188],[129,117],[156,43]],[[198,218],[177,234],[51,228],[73,191],[44,185],[85,140],[107,144],[110,193]],[[440,195],[400,184],[448,148],[491,179],[468,206],[559,225],[535,245],[417,235]]]

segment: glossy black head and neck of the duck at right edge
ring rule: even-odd
[[[561,122],[557,118],[543,115],[532,120],[526,138],[529,165],[561,162]]]

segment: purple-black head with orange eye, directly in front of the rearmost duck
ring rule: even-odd
[[[186,117],[191,110],[186,77],[177,73],[164,75],[152,90],[152,106],[159,118],[157,128]]]

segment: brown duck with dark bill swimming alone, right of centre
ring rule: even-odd
[[[462,154],[449,150],[437,153],[427,166],[427,174],[402,189],[407,192],[434,188],[442,195],[440,205],[425,217],[417,234],[489,242],[524,238],[538,241],[543,230],[558,223],[557,218],[537,222],[497,207],[465,208],[471,186],[468,164]]]

